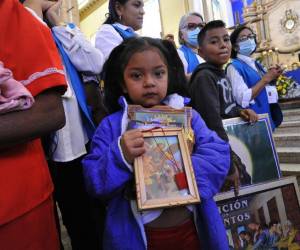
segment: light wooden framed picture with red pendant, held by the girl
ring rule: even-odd
[[[139,210],[200,201],[190,153],[182,129],[143,132],[146,152],[135,159]]]

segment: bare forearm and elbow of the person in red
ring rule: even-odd
[[[65,124],[61,94],[49,89],[35,97],[31,109],[0,116],[0,149],[41,137]]]

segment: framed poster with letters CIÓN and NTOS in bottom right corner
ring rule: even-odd
[[[230,249],[300,249],[296,177],[248,186],[215,197]]]

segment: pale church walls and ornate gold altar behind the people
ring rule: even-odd
[[[255,56],[268,67],[286,68],[284,84],[300,83],[300,1],[299,0],[145,0],[145,16],[140,35],[164,37],[173,34],[178,41],[180,17],[189,11],[203,15],[205,21],[222,19],[229,30],[238,24],[249,25],[257,34],[259,47]],[[75,22],[91,40],[104,22],[108,0],[65,0],[65,21]],[[285,91],[285,90],[284,90]],[[292,91],[290,91],[292,92]],[[300,90],[286,94],[288,99]]]

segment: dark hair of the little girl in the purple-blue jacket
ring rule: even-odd
[[[133,37],[117,46],[104,65],[104,103],[109,113],[120,109],[118,104],[120,96],[125,96],[127,101],[131,102],[122,88],[125,85],[124,70],[135,53],[149,49],[157,49],[168,67],[167,95],[174,93],[182,96],[188,95],[183,64],[174,45],[167,40]]]

